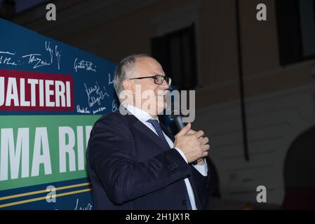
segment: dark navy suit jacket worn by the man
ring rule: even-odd
[[[86,158],[94,209],[187,209],[187,177],[197,209],[206,208],[209,172],[205,177],[187,165],[131,114],[102,116],[91,131]]]

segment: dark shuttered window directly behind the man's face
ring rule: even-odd
[[[194,24],[169,34],[152,38],[152,57],[156,58],[179,90],[197,85]]]

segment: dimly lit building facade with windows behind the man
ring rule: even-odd
[[[293,208],[315,189],[315,7],[303,2],[55,0],[56,21],[46,20],[45,2],[9,20],[113,62],[140,52],[161,58],[180,89],[196,90],[192,127],[210,137],[213,195],[255,203],[266,186],[268,203]]]

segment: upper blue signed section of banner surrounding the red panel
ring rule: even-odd
[[[50,109],[39,107],[34,111],[20,111],[22,106],[16,104],[11,105],[13,110],[6,111],[1,109],[4,105],[0,104],[1,115],[101,114],[112,111],[113,105],[116,109],[112,85],[116,66],[114,63],[6,20],[0,20],[0,34],[0,70],[39,73],[39,77],[44,80],[51,78],[47,74],[71,76],[74,92],[74,102],[72,102],[74,110],[71,111],[54,110],[54,106]],[[36,78],[40,79],[39,77]],[[53,89],[54,86],[51,86]],[[6,92],[0,92],[0,94],[6,94]],[[29,91],[25,97],[33,97],[32,91]]]

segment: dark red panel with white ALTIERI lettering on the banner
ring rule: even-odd
[[[33,76],[33,77],[32,77]],[[34,78],[41,76],[43,78]],[[48,109],[55,107],[71,110],[72,78],[71,76],[47,75],[25,72],[0,71],[0,109],[11,107],[21,110]]]

